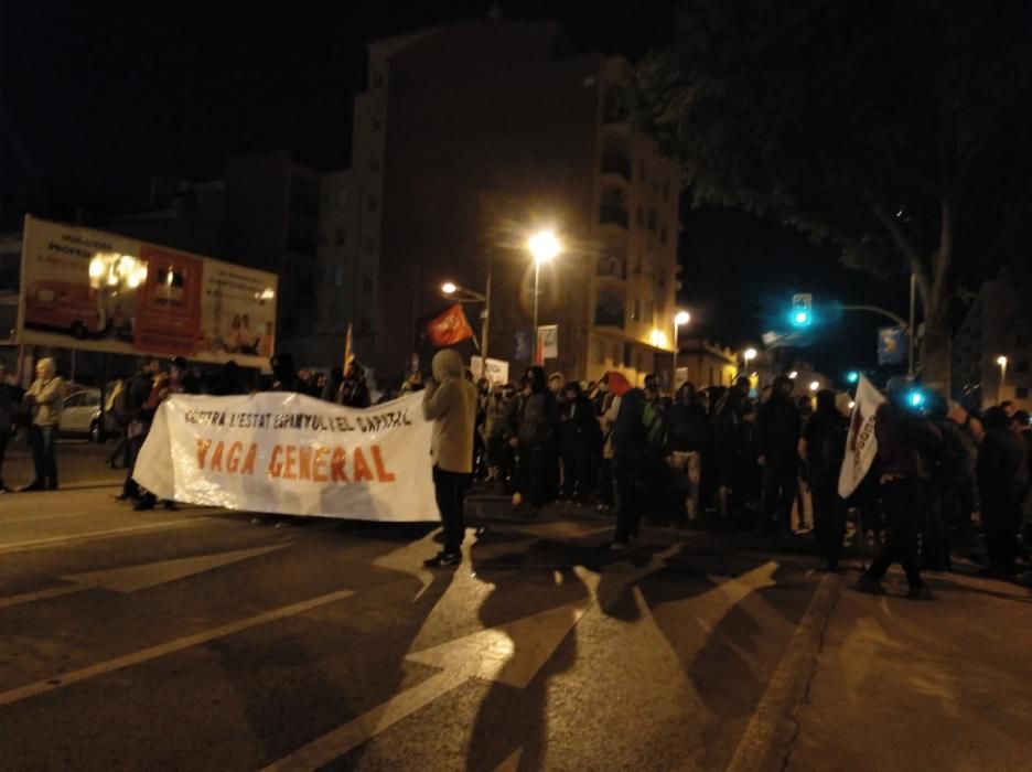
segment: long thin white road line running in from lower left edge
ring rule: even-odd
[[[169,641],[168,643],[162,643],[157,646],[150,646],[149,648],[143,648],[139,652],[133,652],[132,654],[108,660],[107,662],[100,662],[96,665],[83,667],[78,671],[62,673],[60,676],[55,676],[54,678],[37,680],[34,684],[26,684],[25,686],[19,686],[15,689],[0,693],[0,706],[11,705],[12,703],[18,703],[30,697],[46,694],[47,691],[54,691],[56,689],[64,688],[65,686],[71,686],[72,684],[78,684],[80,682],[96,678],[97,676],[107,675],[108,673],[114,673],[126,667],[132,667],[133,665],[139,665],[151,660],[157,660],[158,657],[164,656],[165,654],[174,654],[175,652],[181,652],[184,648],[192,648],[193,646],[207,643],[208,641],[214,641],[215,639],[233,635],[234,633],[239,633],[244,630],[249,630],[250,628],[257,628],[258,625],[266,624],[267,622],[275,622],[276,620],[283,619],[286,616],[297,616],[298,614],[302,614],[305,611],[311,611],[312,609],[316,609],[321,605],[326,605],[327,603],[343,600],[344,598],[347,598],[352,594],[354,594],[353,590],[338,590],[325,596],[319,596],[318,598],[301,601],[300,603],[283,605],[279,609],[273,609],[272,611],[267,611],[256,616],[248,616],[247,619],[241,619],[237,622],[230,622],[229,624],[213,628],[212,630],[205,630],[201,633],[195,633],[193,635],[187,635],[174,641]]]

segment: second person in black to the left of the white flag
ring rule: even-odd
[[[763,467],[763,513],[780,539],[792,530],[792,504],[799,485],[799,408],[792,399],[792,379],[774,378],[774,390],[757,419],[760,465]]]

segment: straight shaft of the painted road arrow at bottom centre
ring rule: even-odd
[[[406,689],[386,703],[362,714],[362,716],[348,721],[343,727],[334,729],[329,735],[323,735],[284,759],[269,764],[262,772],[288,772],[293,770],[308,772],[308,770],[324,766],[334,759],[357,748],[369,738],[376,737],[393,727],[401,719],[408,718],[420,708],[430,705],[441,695],[470,680],[472,674],[466,672],[465,668],[442,671],[430,676],[417,686]]]

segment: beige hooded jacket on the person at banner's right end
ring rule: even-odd
[[[445,472],[473,471],[473,430],[476,423],[476,387],[464,378],[462,357],[451,349],[433,357],[433,378],[423,398],[423,415],[433,421],[430,453],[434,467]]]

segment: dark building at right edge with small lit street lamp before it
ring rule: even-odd
[[[1004,400],[1032,410],[1032,315],[1028,294],[1004,271],[982,285],[953,344],[954,396],[970,407]],[[1000,357],[1006,363],[1000,364]]]

